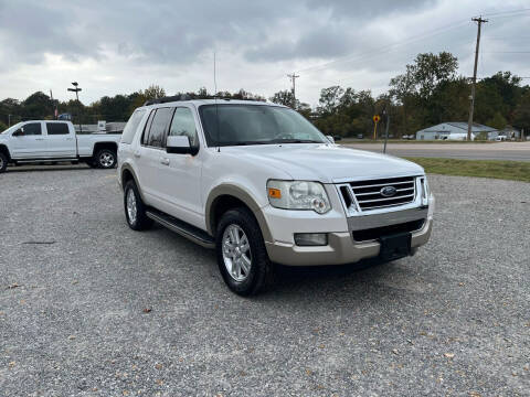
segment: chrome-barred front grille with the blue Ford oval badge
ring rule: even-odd
[[[371,181],[358,181],[349,183],[361,211],[390,207],[412,203],[416,196],[416,183],[414,176],[379,179]],[[384,196],[381,191],[392,186],[395,194]],[[341,190],[344,203],[349,197],[348,192]]]

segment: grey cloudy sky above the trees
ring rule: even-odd
[[[295,71],[311,105],[336,84],[377,95],[420,52],[449,51],[470,75],[478,14],[490,19],[479,76],[530,76],[528,0],[0,0],[0,99],[67,99],[73,81],[85,104],[150,84],[213,92],[214,51],[222,90],[268,97]]]

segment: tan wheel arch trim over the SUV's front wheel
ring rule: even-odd
[[[259,225],[263,238],[265,242],[272,242],[273,237],[271,229],[268,228],[259,205],[243,189],[231,184],[223,184],[214,187],[208,196],[204,214],[208,233],[214,236],[215,227],[221,215],[226,211],[239,206],[245,206],[251,210]]]

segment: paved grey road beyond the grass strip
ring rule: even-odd
[[[381,152],[382,143],[344,143],[347,147]],[[530,161],[530,142],[498,143],[389,143],[398,157],[433,157],[468,160]]]

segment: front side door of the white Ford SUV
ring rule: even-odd
[[[189,107],[174,109],[169,136],[187,136],[191,147],[199,148],[197,120]],[[165,139],[166,141],[166,139]],[[166,146],[163,143],[163,146]],[[156,190],[169,204],[167,213],[197,227],[204,227],[201,203],[202,153],[197,155],[160,152]]]

